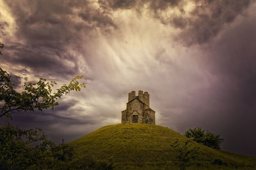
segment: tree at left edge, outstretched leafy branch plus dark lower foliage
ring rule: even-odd
[[[3,48],[0,43],[0,50]],[[1,51],[0,54],[2,55]],[[69,145],[56,145],[48,140],[41,129],[22,130],[8,121],[11,111],[42,111],[58,105],[57,99],[72,90],[81,90],[82,76],[76,76],[68,85],[52,93],[56,82],[47,82],[40,78],[37,83],[24,83],[23,92],[13,89],[11,76],[0,67],[0,117],[6,116],[0,124],[0,169],[58,169],[65,167],[73,157],[73,148]],[[59,168],[63,169],[63,168]]]

